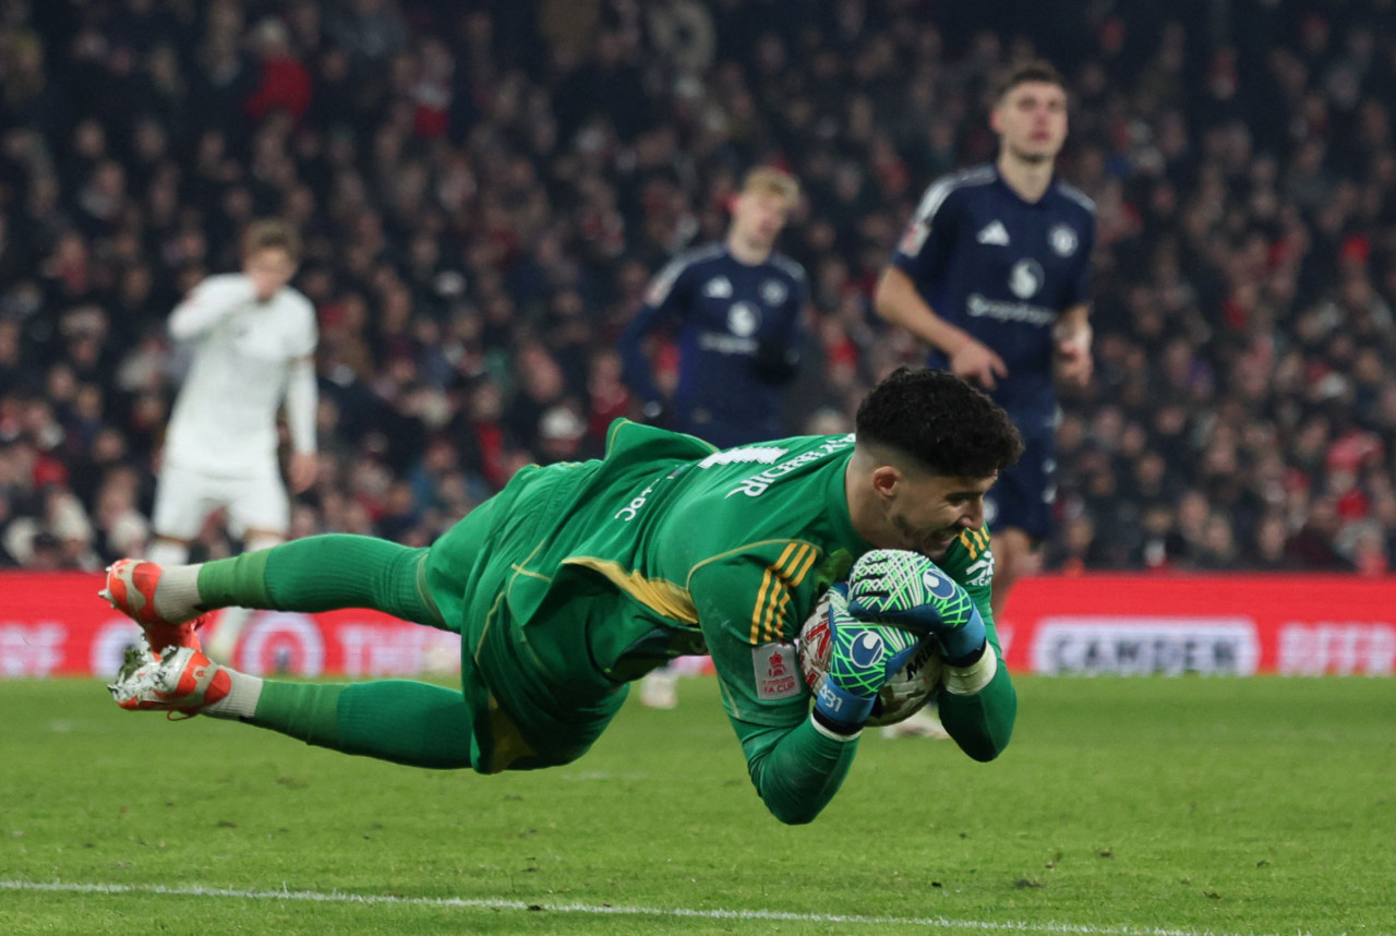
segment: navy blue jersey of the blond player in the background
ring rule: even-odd
[[[804,268],[782,254],[747,265],[723,243],[683,253],[621,335],[625,383],[641,400],[659,398],[641,344],[669,331],[678,341],[671,429],[722,448],[789,434],[780,387],[799,365],[807,296]]]

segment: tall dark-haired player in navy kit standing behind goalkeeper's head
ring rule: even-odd
[[[1094,204],[1055,177],[1067,89],[1046,61],[1002,84],[990,126],[998,158],[937,179],[878,282],[886,321],[931,345],[931,366],[983,387],[1013,418],[1026,451],[987,497],[997,569],[994,616],[1032,571],[1055,499],[1054,379],[1090,380]],[[903,722],[903,732],[926,721]]]

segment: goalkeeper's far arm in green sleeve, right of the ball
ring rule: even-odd
[[[946,550],[941,567],[969,594],[984,619],[986,657],[969,666],[945,666],[941,692],[941,724],[955,743],[974,760],[998,757],[1013,735],[1018,692],[1004,665],[994,612],[990,610],[994,553],[988,529],[967,531]]]

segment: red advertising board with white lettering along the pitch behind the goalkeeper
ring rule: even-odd
[[[135,626],[99,576],[0,576],[0,678],[110,676]],[[1396,577],[1083,576],[1013,590],[1000,637],[1015,672],[1390,676]],[[257,673],[459,672],[456,634],[371,610],[262,612],[230,661]]]

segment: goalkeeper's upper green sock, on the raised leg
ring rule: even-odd
[[[426,588],[426,549],[373,536],[307,536],[204,563],[198,597],[207,608],[373,608],[441,627],[441,613]]]

